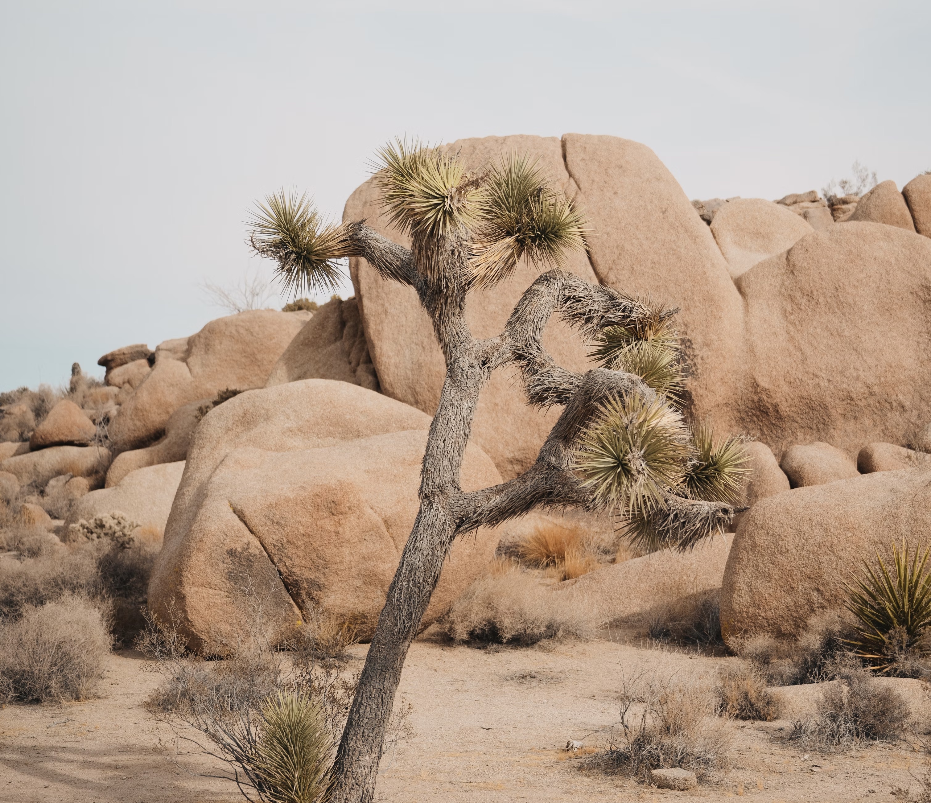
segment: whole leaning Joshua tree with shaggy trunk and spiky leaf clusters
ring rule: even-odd
[[[326,224],[306,197],[260,204],[250,242],[275,259],[295,295],[332,287],[337,260],[362,257],[385,281],[416,290],[446,361],[430,425],[420,511],[388,590],[333,767],[339,803],[371,801],[401,668],[452,542],[533,508],[608,510],[651,549],[687,549],[736,512],[744,469],[738,438],[691,430],[677,408],[682,386],[675,310],[592,286],[560,270],[584,248],[581,211],[526,158],[467,172],[455,154],[397,141],[379,152],[375,180],[390,220],[411,234],[402,248],[365,221]],[[466,296],[491,288],[521,258],[542,273],[504,331],[476,340]],[[600,368],[560,368],[541,336],[558,314],[594,344]],[[464,492],[460,467],[479,393],[492,370],[515,365],[527,403],[562,413],[533,466],[492,488]]]

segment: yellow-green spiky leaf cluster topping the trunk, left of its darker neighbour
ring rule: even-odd
[[[414,236],[442,237],[478,220],[480,177],[454,156],[396,140],[378,151],[375,181],[390,221]]]

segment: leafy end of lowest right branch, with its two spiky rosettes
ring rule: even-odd
[[[661,396],[615,396],[580,437],[575,464],[596,503],[647,551],[688,549],[730,523],[748,478],[740,438],[690,433]]]

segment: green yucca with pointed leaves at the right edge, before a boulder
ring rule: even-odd
[[[924,632],[931,624],[931,573],[925,572],[929,550],[909,543],[892,545],[890,571],[876,553],[878,569],[863,561],[863,575],[846,585],[844,602],[857,618],[857,636],[846,643],[877,672],[892,674],[897,660],[927,654]]]

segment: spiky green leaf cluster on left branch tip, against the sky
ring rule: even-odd
[[[337,260],[350,256],[344,226],[327,223],[306,195],[293,192],[281,190],[256,206],[250,243],[257,254],[277,261],[287,293],[297,298],[339,287]]]

